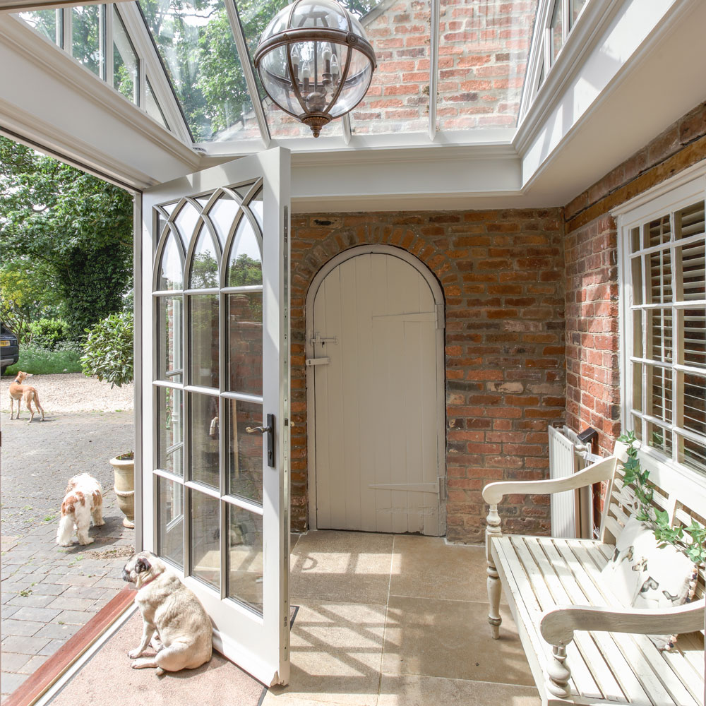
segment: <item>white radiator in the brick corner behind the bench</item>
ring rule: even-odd
[[[575,432],[563,426],[549,427],[549,477],[565,478],[598,460]],[[593,493],[591,488],[568,490],[551,496],[551,536],[593,536]]]

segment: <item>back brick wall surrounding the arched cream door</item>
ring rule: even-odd
[[[445,298],[448,537],[480,542],[481,489],[546,477],[546,426],[564,416],[561,212],[309,214],[292,217],[292,526],[307,508],[305,304],[338,253],[378,243],[413,253]],[[549,530],[546,497],[509,498],[508,527]]]

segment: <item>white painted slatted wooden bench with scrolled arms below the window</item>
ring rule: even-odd
[[[622,454],[625,446],[616,445]],[[645,462],[643,461],[643,464]],[[650,463],[653,502],[672,522],[705,524],[706,478]],[[704,576],[690,604],[663,611],[616,604],[601,580],[633,495],[623,489],[617,457],[568,478],[503,481],[483,489],[490,505],[486,528],[488,597],[493,638],[499,637],[501,587],[544,705],[640,704],[702,706],[704,700]],[[608,482],[600,539],[505,535],[498,503],[516,493],[542,495]],[[679,633],[676,649],[662,652],[647,635]]]

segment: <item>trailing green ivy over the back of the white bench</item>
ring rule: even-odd
[[[638,501],[635,517],[652,527],[657,546],[667,544],[676,546],[695,563],[706,562],[706,527],[692,520],[688,527],[673,527],[669,524],[669,514],[652,505],[652,487],[648,483],[650,471],[643,469],[638,459],[638,449],[635,448],[637,438],[634,431],[628,431],[618,437],[618,441],[628,445],[628,460],[623,466],[625,475],[623,483],[632,486],[635,499]]]

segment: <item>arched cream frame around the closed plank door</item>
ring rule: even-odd
[[[391,255],[405,261],[424,277],[429,285],[436,306],[438,325],[436,328],[436,455],[438,463],[438,475],[443,477],[439,494],[439,535],[446,534],[446,400],[445,400],[445,366],[444,366],[444,299],[443,291],[438,280],[431,270],[412,253],[395,248],[391,245],[361,245],[330,259],[321,270],[316,273],[309,292],[306,293],[306,357],[314,355],[314,347],[311,342],[314,336],[313,330],[313,303],[319,287],[325,278],[339,265],[345,263],[359,255]],[[315,390],[315,369],[313,366],[306,368],[306,457],[307,457],[307,490],[309,491],[309,529],[316,530],[316,390]]]

